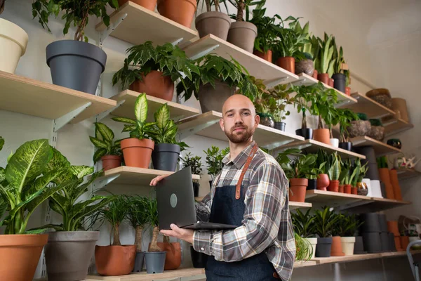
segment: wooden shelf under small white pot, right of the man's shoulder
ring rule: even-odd
[[[366,156],[364,155],[361,155],[352,151],[344,150],[342,148],[335,148],[332,145],[326,145],[326,143],[321,143],[319,141],[314,141],[314,140],[295,141],[293,143],[288,143],[280,147],[280,149],[282,150],[286,150],[287,148],[300,148],[301,150],[305,150],[310,153],[316,153],[321,148],[325,150],[326,152],[330,152],[330,153],[338,152],[338,155],[340,155],[340,157],[344,159],[355,158],[355,157],[366,159]]]

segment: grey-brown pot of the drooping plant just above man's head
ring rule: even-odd
[[[225,100],[234,95],[236,87],[222,81],[215,81],[215,88],[208,83],[199,88],[199,103],[202,113],[214,110],[222,112]]]

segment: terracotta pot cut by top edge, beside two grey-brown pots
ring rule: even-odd
[[[158,11],[164,17],[190,28],[196,5],[196,0],[158,0]]]

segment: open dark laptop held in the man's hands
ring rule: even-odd
[[[196,220],[194,207],[193,179],[190,166],[163,178],[156,185],[158,201],[158,219],[161,230],[171,230],[174,223],[179,228],[193,230],[226,230],[234,229],[222,223],[209,223]]]

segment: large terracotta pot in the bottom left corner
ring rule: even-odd
[[[32,281],[48,234],[0,235],[0,279]]]

